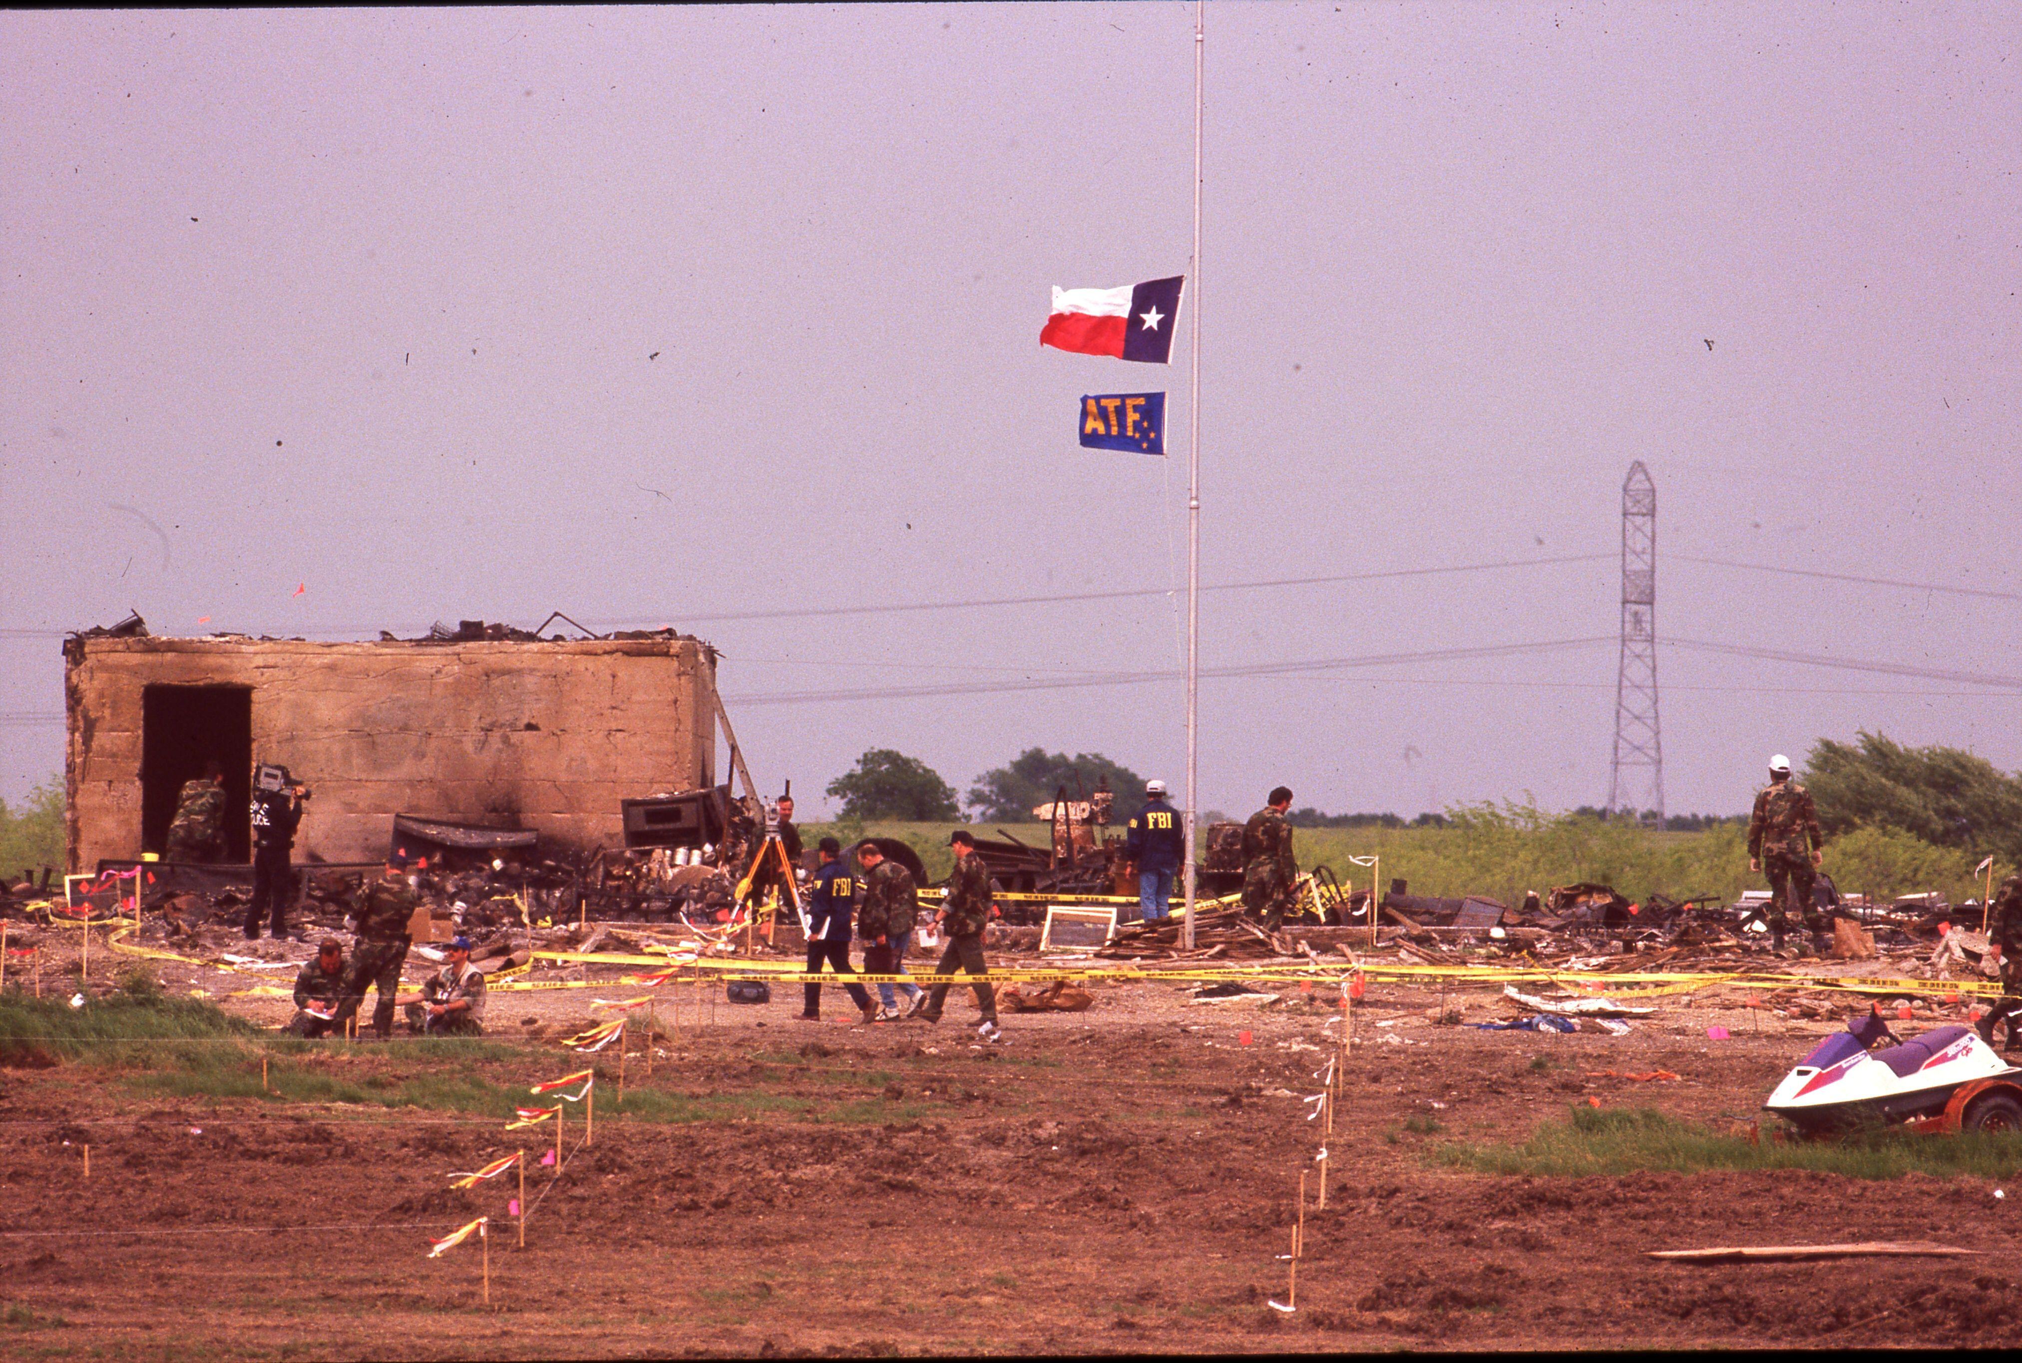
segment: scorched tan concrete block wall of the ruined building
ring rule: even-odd
[[[160,851],[174,787],[212,756],[237,855],[249,756],[313,791],[297,861],[382,857],[396,813],[619,845],[621,799],[716,783],[716,655],[698,639],[83,637],[65,663],[73,870]]]

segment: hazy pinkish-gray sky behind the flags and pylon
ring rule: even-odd
[[[1185,443],[1082,451],[1203,324],[1203,807],[1607,793],[1620,483],[1664,639],[2022,675],[2022,8],[1207,14],[1169,370],[1049,285],[1195,271],[1187,4],[0,14],[0,627],[677,625],[762,785],[1029,744],[1179,781]],[[1201,307],[1195,307],[1195,303]],[[1713,342],[1709,348],[1707,342]],[[657,356],[657,358],[653,358]],[[305,590],[293,595],[297,584]],[[200,623],[208,617],[208,623]],[[61,768],[0,635],[0,797]],[[2022,766],[2022,688],[1662,647],[1672,811],[1858,728]],[[309,773],[313,779],[313,773]]]

